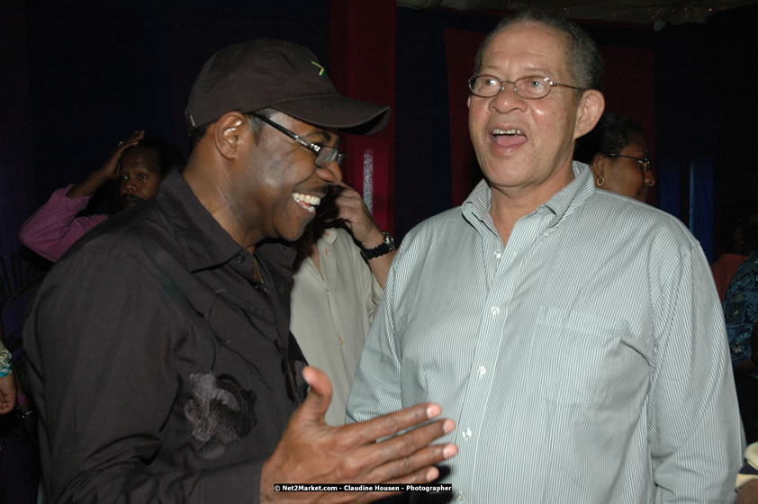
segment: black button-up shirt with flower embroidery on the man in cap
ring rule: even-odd
[[[24,328],[52,501],[257,502],[302,400],[293,258],[258,246],[258,283],[178,173],[69,250]]]

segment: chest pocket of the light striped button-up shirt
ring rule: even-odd
[[[621,320],[540,306],[529,349],[537,399],[586,407],[605,401],[624,330]]]

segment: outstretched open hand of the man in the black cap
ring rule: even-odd
[[[450,432],[455,423],[438,419],[437,404],[418,404],[376,419],[330,427],[324,414],[331,401],[329,378],[314,367],[303,377],[311,385],[308,397],[295,410],[274,453],[263,466],[261,502],[369,502],[386,492],[282,492],[275,483],[411,483],[434,481],[434,464],[456,455],[453,444],[429,443]],[[397,437],[383,441],[412,428]]]

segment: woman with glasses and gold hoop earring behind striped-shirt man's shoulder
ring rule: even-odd
[[[638,122],[605,112],[595,129],[580,140],[576,157],[590,165],[600,189],[647,201],[655,177],[645,131]]]

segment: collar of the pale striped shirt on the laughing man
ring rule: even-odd
[[[579,161],[573,161],[571,169],[573,171],[573,180],[537,208],[537,211],[550,211],[553,213],[554,218],[548,227],[555,226],[564,220],[597,190],[590,166]],[[474,223],[475,219],[487,223],[492,221],[492,217],[490,216],[491,207],[492,188],[483,179],[479,184],[476,184],[474,191],[468,195],[461,210],[465,219],[469,222]]]

